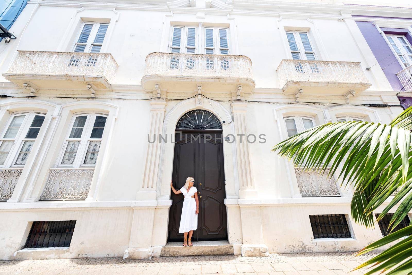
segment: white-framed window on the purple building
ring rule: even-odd
[[[412,45],[410,45],[405,35],[385,34],[384,37],[402,68],[411,66]]]

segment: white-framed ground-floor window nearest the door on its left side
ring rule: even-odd
[[[73,115],[56,167],[95,167],[107,119],[108,115],[100,112]]]

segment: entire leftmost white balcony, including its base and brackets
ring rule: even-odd
[[[3,76],[30,89],[111,89],[117,63],[111,54],[18,51]],[[28,83],[28,85],[27,85]]]

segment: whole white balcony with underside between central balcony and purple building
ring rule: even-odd
[[[345,95],[371,86],[359,62],[283,59],[276,71],[285,94]]]

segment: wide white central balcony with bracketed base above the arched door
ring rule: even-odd
[[[146,57],[142,78],[145,90],[155,85],[167,91],[235,92],[239,85],[243,93],[255,88],[252,79],[252,61],[243,55],[176,54],[153,52]]]

